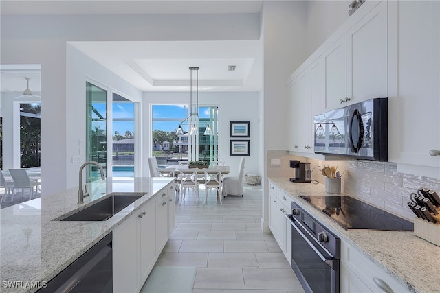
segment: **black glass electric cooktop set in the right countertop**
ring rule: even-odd
[[[300,196],[347,230],[414,231],[412,222],[351,196]]]

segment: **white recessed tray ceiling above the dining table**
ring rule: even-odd
[[[199,67],[201,91],[261,90],[259,40],[70,44],[142,91],[189,89],[189,67]]]

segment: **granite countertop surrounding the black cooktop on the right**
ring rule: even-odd
[[[291,183],[289,178],[269,178],[292,196],[294,202],[317,218],[343,241],[358,249],[365,257],[383,268],[410,292],[439,292],[437,264],[440,247],[417,237],[413,232],[347,231],[324,213],[314,209],[298,196],[325,195],[325,185]]]

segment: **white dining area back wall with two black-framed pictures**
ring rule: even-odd
[[[219,107],[219,160],[225,161],[230,166],[231,175],[236,176],[239,169],[241,156],[230,156],[229,129],[230,121],[250,121],[250,137],[240,138],[250,140],[250,156],[245,156],[245,173],[263,174],[259,162],[261,122],[259,118],[259,92],[199,92],[199,106]],[[144,133],[151,133],[151,105],[153,104],[189,104],[190,96],[184,93],[144,93],[142,117],[144,119]],[[176,122],[176,128],[179,122]],[[236,138],[238,140],[238,138]],[[144,159],[142,174],[148,176],[148,155],[151,154],[151,137],[144,135]],[[244,178],[244,176],[243,176]]]

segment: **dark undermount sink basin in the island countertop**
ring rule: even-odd
[[[105,221],[122,211],[144,194],[113,194],[91,206],[77,211],[72,215],[59,219],[60,221]]]

